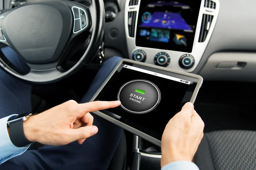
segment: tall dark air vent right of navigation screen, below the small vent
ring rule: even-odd
[[[198,42],[204,42],[207,34],[209,32],[209,28],[211,27],[212,24],[212,15],[204,14],[203,19],[202,19],[202,25],[201,25],[201,31],[200,31],[200,36]]]

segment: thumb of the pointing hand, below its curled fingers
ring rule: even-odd
[[[96,126],[84,126],[79,127],[78,129],[71,129],[71,136],[73,141],[89,138],[96,133],[98,133],[98,127]]]

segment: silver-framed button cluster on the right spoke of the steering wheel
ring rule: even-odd
[[[73,33],[76,34],[79,31],[83,30],[87,26],[87,14],[84,11],[84,9],[73,6],[72,7],[72,12],[74,15],[74,29]]]

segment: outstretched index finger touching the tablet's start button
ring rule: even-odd
[[[120,101],[111,101],[111,102],[106,102],[106,101],[95,101],[95,102],[88,102],[88,103],[83,103],[79,104],[79,114],[80,116],[85,115],[88,112],[94,112],[94,111],[100,111],[104,109],[109,109],[109,108],[115,108],[121,104]]]

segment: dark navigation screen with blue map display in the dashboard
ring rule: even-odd
[[[136,46],[192,52],[201,0],[141,0]]]

